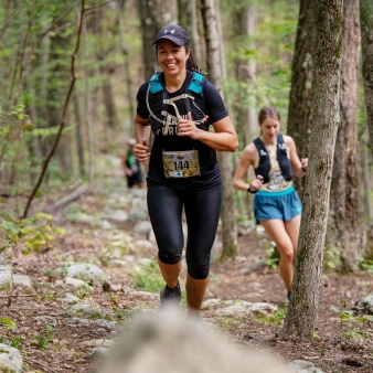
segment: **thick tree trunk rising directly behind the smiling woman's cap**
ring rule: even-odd
[[[178,23],[177,2],[175,0],[139,0],[137,4],[141,20],[145,79],[149,81],[159,70],[156,47],[152,43],[160,29],[168,24]]]

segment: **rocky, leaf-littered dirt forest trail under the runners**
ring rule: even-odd
[[[93,371],[121,326],[159,307],[163,281],[146,190],[127,190],[118,159],[105,156],[100,166],[105,172],[94,192],[56,214],[54,224],[66,234],[54,248],[8,258],[13,276],[31,279],[1,298],[1,318],[11,320],[0,323],[1,340],[21,352],[23,372]],[[280,341],[286,292],[277,269],[266,266],[270,242],[249,222],[239,232],[241,254],[225,264],[217,260],[216,237],[204,323],[236,343],[269,348],[286,362],[309,361],[324,373],[373,372],[372,322],[341,320],[343,310],[373,292],[371,276],[324,274],[315,339]],[[183,269],[182,285],[184,279]]]

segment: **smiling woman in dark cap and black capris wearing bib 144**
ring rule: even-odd
[[[211,248],[222,203],[216,150],[235,151],[237,136],[216,88],[200,73],[180,25],[162,28],[153,43],[162,73],[137,94],[135,154],[150,157],[148,210],[166,286],[161,305],[180,302],[179,275],[188,223],[186,301],[199,312],[209,284]],[[209,131],[210,126],[214,131]],[[154,140],[150,153],[150,130]]]

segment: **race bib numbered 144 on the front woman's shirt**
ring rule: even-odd
[[[166,178],[190,178],[201,174],[198,150],[162,151]]]

